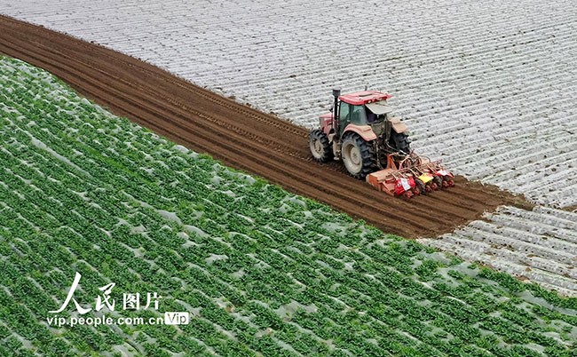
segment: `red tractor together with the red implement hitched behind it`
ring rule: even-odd
[[[367,179],[393,195],[422,194],[453,186],[453,174],[410,149],[407,126],[392,115],[390,94],[358,91],[341,95],[333,90],[335,104],[320,116],[320,129],[309,134],[312,156],[326,163],[343,160],[354,178]]]

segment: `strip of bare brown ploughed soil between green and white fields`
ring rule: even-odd
[[[409,201],[376,192],[339,163],[319,164],[308,132],[119,52],[0,16],[0,52],[58,75],[116,115],[405,237],[436,236],[522,198],[464,178]]]

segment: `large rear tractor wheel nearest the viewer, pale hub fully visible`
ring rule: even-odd
[[[376,169],[373,146],[355,132],[344,134],[341,155],[344,167],[354,178],[363,179]]]

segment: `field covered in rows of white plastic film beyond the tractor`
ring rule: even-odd
[[[539,205],[519,214],[509,205],[440,239],[439,229],[397,233],[577,295],[573,2],[59,1],[38,8],[20,1],[3,12],[144,59],[304,127],[328,109],[334,86],[390,91],[419,153]],[[454,211],[427,210],[432,222],[458,219]],[[424,224],[427,213],[418,213]]]

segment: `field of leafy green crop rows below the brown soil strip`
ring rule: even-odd
[[[577,300],[385,235],[0,59],[0,354],[570,356]],[[155,291],[189,325],[50,327]]]

